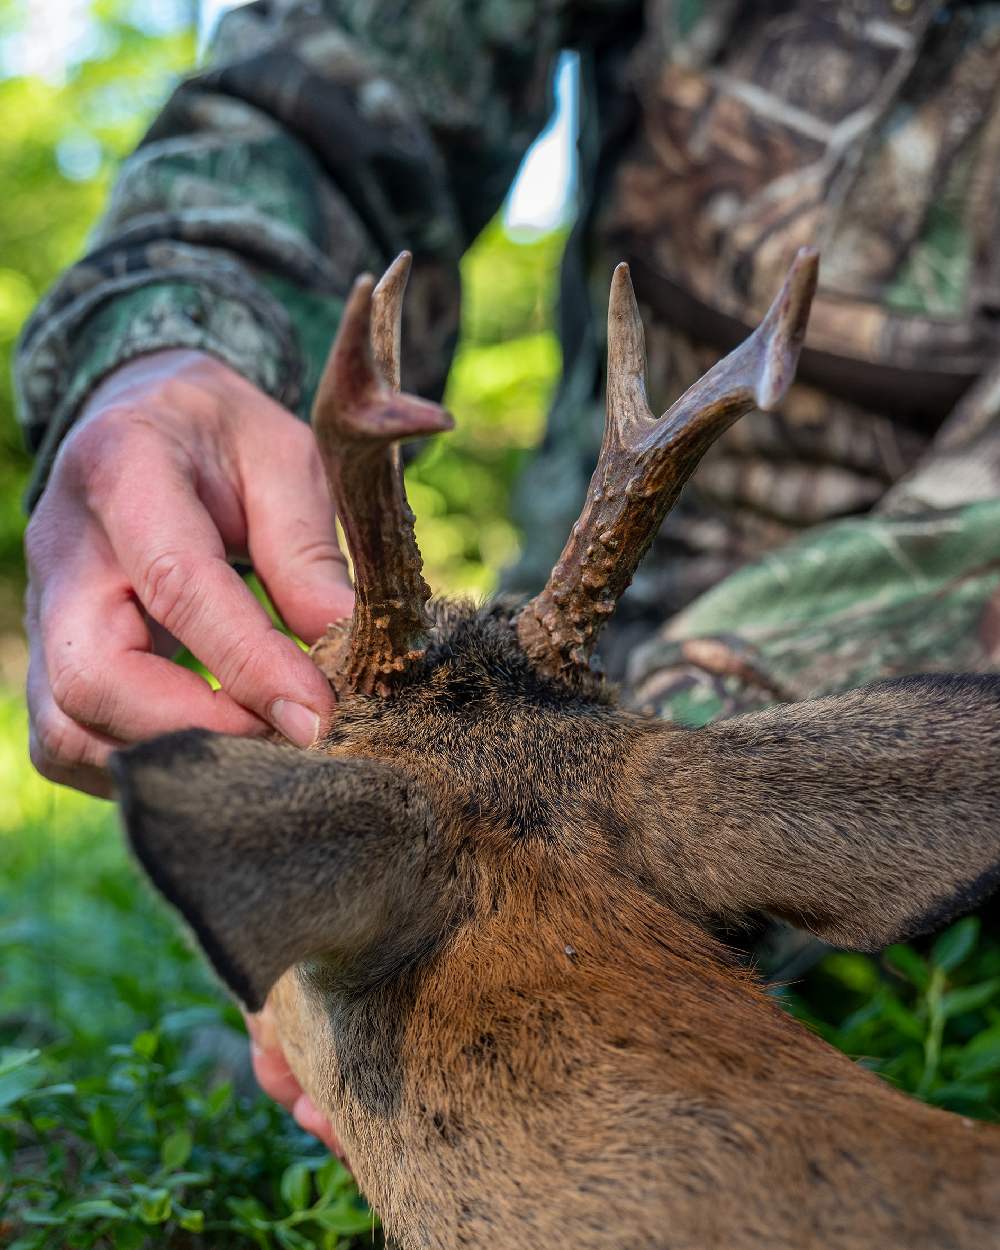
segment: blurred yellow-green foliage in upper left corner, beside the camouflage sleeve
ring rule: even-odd
[[[92,39],[61,80],[19,76],[26,2],[0,0],[0,578],[22,580],[21,495],[29,459],[14,419],[11,349],[25,316],[74,260],[118,158],[171,75],[194,59],[190,25],[150,30],[136,4],[94,4]]]

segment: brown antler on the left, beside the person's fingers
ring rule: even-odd
[[[324,671],[338,690],[388,694],[424,654],[430,588],[421,574],[399,442],[450,430],[436,404],[399,394],[410,254],[375,286],[354,284],[312,405],[312,430],[354,561],[350,634]]]

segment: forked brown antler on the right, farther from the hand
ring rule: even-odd
[[[791,385],[816,289],[819,254],[802,248],[760,326],[659,420],[646,402],[645,342],[629,266],[608,306],[608,416],[579,521],[545,589],[518,618],[521,646],[545,671],[585,669],[604,622],[666,512],[715,439]]]

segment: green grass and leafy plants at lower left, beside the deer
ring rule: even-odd
[[[25,750],[0,696],[0,1244],[372,1245],[344,1168],[254,1089],[239,1012],[114,810]]]

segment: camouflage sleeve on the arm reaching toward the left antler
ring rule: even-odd
[[[20,418],[41,491],[102,375],[210,351],[305,414],[348,285],[416,255],[406,385],[439,391],[458,261],[550,109],[568,6],[259,0],[220,25],[121,168],[91,250],[29,320]]]

